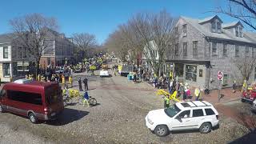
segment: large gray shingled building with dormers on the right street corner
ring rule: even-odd
[[[232,86],[242,75],[231,61],[246,54],[256,57],[256,34],[243,30],[241,22],[223,24],[217,15],[194,19],[181,17],[176,32],[178,42],[173,54],[166,54],[167,65],[174,64],[181,82],[192,86],[218,88],[218,71],[223,72],[222,86]],[[168,57],[174,55],[173,58]],[[256,64],[250,82],[256,79]]]

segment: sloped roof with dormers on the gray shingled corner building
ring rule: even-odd
[[[221,38],[221,39],[226,39],[226,40],[231,40],[231,41],[238,41],[238,42],[250,42],[250,43],[256,43],[256,40],[252,40],[252,38],[248,37],[242,37],[238,38],[234,36],[233,33],[231,33],[229,30],[222,29],[222,33],[212,33],[209,30],[209,27],[200,24],[199,19],[194,19],[194,18],[187,18],[187,17],[181,17],[185,22],[189,23],[191,26],[193,26],[195,29],[197,29],[203,36],[209,37],[209,38]]]

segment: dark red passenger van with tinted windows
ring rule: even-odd
[[[0,93],[0,112],[10,112],[38,120],[58,118],[64,110],[62,89],[56,82],[18,79],[6,83]]]

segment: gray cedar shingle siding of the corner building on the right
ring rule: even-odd
[[[181,17],[178,20],[178,31],[181,33],[179,37],[179,50],[183,50],[183,42],[187,42],[187,57],[183,57],[183,52],[179,57],[175,57],[175,60],[191,60],[193,61],[209,61],[211,68],[206,69],[205,73],[205,84],[207,85],[210,82],[210,78],[213,78],[214,82],[211,83],[211,89],[218,88],[217,73],[219,70],[223,74],[228,74],[228,84],[226,86],[232,86],[234,80],[242,79],[240,72],[237,70],[237,67],[234,66],[232,59],[235,58],[235,45],[239,46],[239,54],[245,54],[245,47],[249,46],[249,56],[251,57],[252,48],[254,48],[254,53],[256,55],[256,34],[246,32],[243,30],[243,38],[238,38],[234,35],[233,28],[230,28],[230,25],[227,26],[227,29],[222,28],[222,33],[212,33],[211,24],[214,18],[218,16],[206,18],[202,21],[194,18]],[[202,24],[199,24],[199,23]],[[241,24],[236,22],[233,25]],[[186,24],[187,34],[186,37],[182,36],[182,25]],[[223,26],[224,24],[222,24]],[[232,27],[232,26],[231,26]],[[193,56],[193,41],[198,41],[198,56]],[[216,55],[212,54],[212,42],[217,42],[217,51]],[[223,43],[227,45],[227,56],[223,56]],[[185,71],[184,71],[185,74]],[[251,74],[250,81],[254,79],[254,71]],[[198,82],[202,85],[202,83]]]

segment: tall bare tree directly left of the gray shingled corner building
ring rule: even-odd
[[[165,10],[159,14],[137,14],[130,20],[135,34],[138,34],[136,38],[146,44],[143,54],[156,74],[162,70],[167,50],[172,49],[177,42],[174,35],[176,23],[177,18],[171,17]]]

